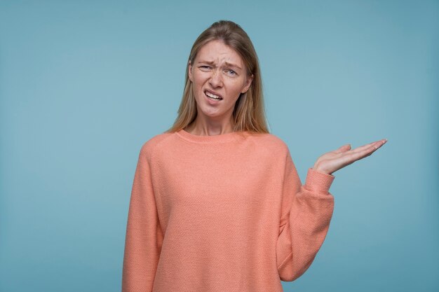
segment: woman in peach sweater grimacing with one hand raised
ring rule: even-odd
[[[302,185],[267,130],[257,54],[239,25],[198,36],[186,72],[173,127],[140,150],[122,291],[283,291],[323,244],[332,173],[386,140],[325,153]]]

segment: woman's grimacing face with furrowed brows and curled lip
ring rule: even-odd
[[[198,50],[194,64],[189,61],[189,79],[198,115],[222,119],[231,118],[236,100],[250,88],[253,77],[247,76],[245,64],[234,49],[215,40]]]

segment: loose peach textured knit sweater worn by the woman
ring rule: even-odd
[[[305,184],[273,134],[157,134],[140,149],[123,292],[278,292],[325,240],[335,176]]]

